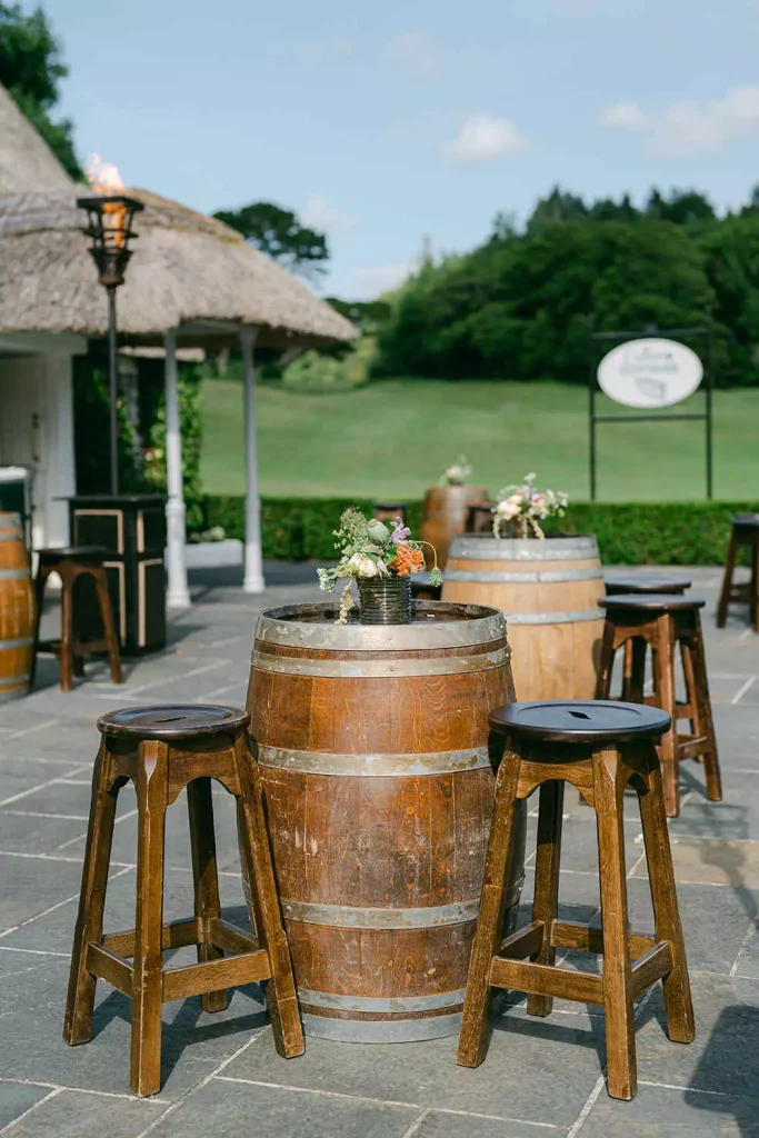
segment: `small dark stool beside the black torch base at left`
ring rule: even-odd
[[[110,665],[110,678],[115,684],[123,683],[118,637],[114,625],[114,611],[108,592],[108,577],[104,566],[108,551],[100,545],[69,545],[61,550],[39,550],[39,564],[34,578],[36,600],[36,628],[34,634],[34,662],[32,665],[32,683],[36,668],[38,652],[53,652],[60,660],[60,686],[71,692],[74,676],[84,675],[84,657],[88,652],[107,652]],[[44,585],[51,572],[57,572],[63,584],[60,596],[60,640],[40,640],[40,618]],[[74,585],[80,577],[92,577],[100,608],[100,618],[105,636],[97,641],[80,641],[74,630]]]

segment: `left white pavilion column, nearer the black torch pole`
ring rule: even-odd
[[[164,333],[166,348],[166,545],[168,551],[170,609],[189,609],[190,593],[187,587],[184,563],[184,490],[182,488],[182,438],[179,418],[179,378],[176,373],[176,330]]]

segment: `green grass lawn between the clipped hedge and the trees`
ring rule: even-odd
[[[696,393],[673,412],[702,410]],[[261,489],[269,495],[421,497],[464,453],[492,493],[537,471],[538,485],[589,497],[587,391],[563,384],[387,380],[347,394],[257,389]],[[626,413],[600,396],[599,413]],[[630,412],[633,414],[634,412]],[[704,424],[597,428],[599,497],[704,496]],[[242,388],[203,386],[201,478],[245,493]],[[715,394],[715,496],[759,497],[759,389]]]

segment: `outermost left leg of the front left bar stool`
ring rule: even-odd
[[[82,868],[82,891],[74,930],[68,997],[64,1020],[64,1039],[72,1047],[76,1044],[86,1044],[92,1034],[97,978],[88,972],[86,954],[90,943],[98,943],[102,940],[102,910],[106,904],[108,863],[114,835],[117,794],[117,791],[108,791],[110,781],[110,757],[106,744],[101,742],[92,774],[92,799]]]

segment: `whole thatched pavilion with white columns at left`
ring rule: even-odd
[[[168,603],[173,607],[189,603],[176,396],[178,346],[213,348],[241,344],[247,473],[245,587],[248,592],[259,592],[264,582],[254,346],[349,340],[355,330],[234,230],[147,190],[127,192],[145,204],[145,211],[135,218],[139,240],[126,283],[118,292],[119,333],[124,343],[163,346],[166,354]],[[64,434],[69,435],[71,455],[65,485],[61,487],[60,477],[53,479],[57,495],[69,492],[73,471],[71,354],[85,349],[86,337],[105,336],[107,331],[106,298],[81,233],[84,218],[76,208],[76,188],[46,143],[0,88],[0,354],[3,349],[23,351],[25,340],[27,352],[48,352],[58,344],[69,353],[68,426]],[[17,361],[15,368],[18,371]],[[8,417],[18,419],[14,403],[19,403],[24,382],[22,368],[15,398],[7,397],[3,370],[7,365],[0,362],[0,421],[6,420],[5,430],[0,427],[0,447],[8,450],[5,439],[15,436],[20,426],[9,426]],[[60,430],[57,435],[60,436]],[[57,438],[58,450],[64,442]],[[6,460],[5,453],[0,457],[24,461],[23,456],[13,455]]]

